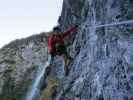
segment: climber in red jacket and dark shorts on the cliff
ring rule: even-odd
[[[65,75],[68,75],[68,65],[72,58],[68,55],[66,51],[66,46],[64,43],[64,39],[70,35],[72,32],[76,32],[78,25],[75,25],[68,29],[66,32],[61,32],[59,27],[55,27],[53,32],[48,36],[48,52],[50,63],[53,61],[54,56],[59,55],[62,56],[65,62],[64,70]]]

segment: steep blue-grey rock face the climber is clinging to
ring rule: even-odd
[[[133,100],[133,23],[98,27],[132,19],[132,0],[64,0],[62,30],[81,25],[54,100]]]

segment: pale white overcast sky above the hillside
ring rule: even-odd
[[[0,47],[17,38],[50,31],[63,0],[0,0]]]

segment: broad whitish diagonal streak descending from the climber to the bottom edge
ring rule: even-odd
[[[30,87],[25,100],[36,100],[36,98],[39,96],[40,92],[40,83],[42,79],[44,78],[44,73],[46,67],[49,66],[49,62],[46,62],[46,64],[40,68],[37,72],[36,78],[33,81],[32,86]]]

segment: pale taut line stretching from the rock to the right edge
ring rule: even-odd
[[[95,25],[95,28],[117,26],[117,25],[123,25],[123,24],[133,24],[133,20],[114,22],[114,23],[111,23],[111,24]]]

